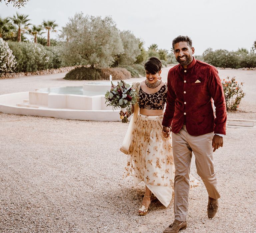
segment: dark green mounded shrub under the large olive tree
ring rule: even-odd
[[[78,67],[68,72],[65,76],[66,80],[101,80],[101,70],[91,67]]]

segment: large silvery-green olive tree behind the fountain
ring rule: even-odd
[[[123,46],[119,31],[111,17],[84,16],[77,13],[62,29],[62,59],[69,65],[109,67]]]

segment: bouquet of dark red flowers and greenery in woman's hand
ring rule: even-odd
[[[130,108],[131,104],[135,105],[137,92],[131,87],[130,84],[125,83],[123,80],[117,82],[115,86],[111,81],[110,91],[105,94],[105,104],[112,106],[113,109],[121,108],[120,118],[123,123],[127,123],[128,119],[126,110]]]

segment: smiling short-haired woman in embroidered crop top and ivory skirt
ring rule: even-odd
[[[144,181],[145,194],[139,215],[146,215],[152,193],[164,205],[172,199],[174,163],[171,137],[162,133],[167,83],[161,81],[162,63],[151,57],[144,65],[146,80],[134,83],[138,101],[120,150],[128,154],[123,178],[132,175],[135,185]],[[197,186],[198,181],[191,180]]]

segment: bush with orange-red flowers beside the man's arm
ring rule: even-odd
[[[227,77],[227,79],[223,79],[221,83],[224,90],[227,111],[237,110],[241,99],[245,96],[245,93],[241,88],[243,83],[239,85],[235,77],[231,78],[231,80]]]

